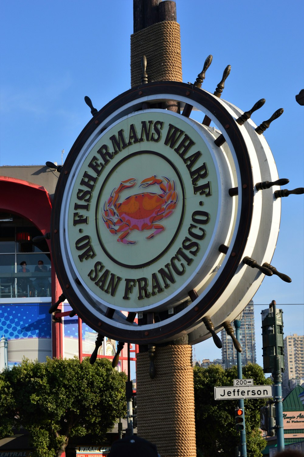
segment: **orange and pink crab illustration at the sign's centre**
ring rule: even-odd
[[[136,241],[127,239],[133,230],[154,230],[146,239],[152,239],[163,232],[165,227],[159,223],[162,219],[169,218],[173,213],[178,195],[174,180],[170,181],[165,176],[162,179],[156,175],[141,181],[139,187],[149,187],[156,184],[161,193],[143,192],[127,197],[119,202],[121,192],[136,185],[137,180],[130,178],[121,181],[113,189],[111,196],[104,203],[101,216],[106,227],[113,235],[119,235],[117,241],[123,244],[135,244]]]

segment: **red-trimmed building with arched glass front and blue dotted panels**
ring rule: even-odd
[[[69,316],[68,302],[60,303],[56,315],[48,312],[62,293],[46,236],[57,180],[58,172],[46,166],[0,167],[0,336],[7,340],[0,369],[24,356],[82,360],[95,349],[96,332],[77,315]],[[116,344],[105,338],[98,355],[112,358]],[[135,360],[134,346],[131,351]],[[127,352],[125,345],[118,370],[127,372]],[[16,449],[13,442],[0,443],[1,451],[11,449]]]

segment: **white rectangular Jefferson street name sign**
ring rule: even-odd
[[[214,388],[214,400],[272,398],[272,386],[222,386]]]

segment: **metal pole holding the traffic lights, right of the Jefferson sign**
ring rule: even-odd
[[[277,429],[277,450],[281,452],[285,449],[284,444],[284,426],[283,426],[283,397],[282,397],[282,374],[280,358],[277,350],[277,310],[276,302],[272,300],[269,308],[273,311],[273,329],[274,329],[274,348],[275,348],[275,371],[272,373],[274,386],[274,401],[276,403],[276,429]]]

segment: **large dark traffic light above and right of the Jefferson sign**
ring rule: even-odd
[[[282,309],[277,309],[276,311],[276,319],[274,318],[272,307],[263,309],[261,312],[264,373],[273,373],[276,370],[275,326],[277,328],[277,356],[281,372],[284,371],[283,311]]]

